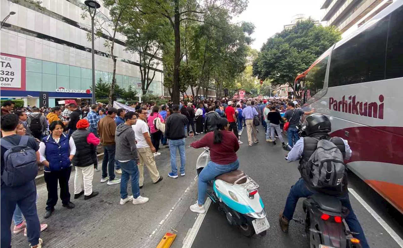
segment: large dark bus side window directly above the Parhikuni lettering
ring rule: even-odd
[[[328,87],[385,79],[389,17],[384,17],[333,50]]]

